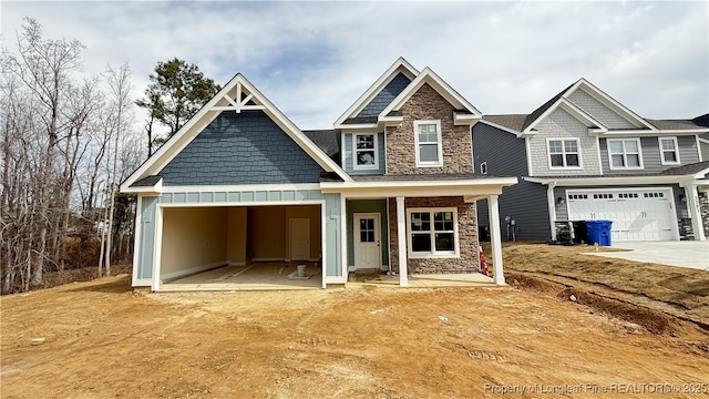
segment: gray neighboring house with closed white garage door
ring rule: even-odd
[[[473,126],[474,165],[521,177],[500,200],[510,238],[555,239],[571,222],[612,219],[614,242],[703,241],[707,126],[709,115],[640,117],[580,79],[531,114],[483,116]],[[484,201],[477,212],[485,228]]]

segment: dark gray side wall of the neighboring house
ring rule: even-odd
[[[480,173],[480,165],[486,163],[487,174],[492,176],[527,175],[524,139],[485,123],[476,123],[472,130],[472,141],[475,173]],[[477,201],[476,205],[477,224],[490,226],[487,200]],[[517,184],[502,190],[499,206],[503,239],[506,238],[505,216],[515,219],[517,239],[551,237],[546,186],[520,180]]]

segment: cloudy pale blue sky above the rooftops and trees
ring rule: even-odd
[[[86,73],[129,63],[134,99],[179,58],[219,84],[242,72],[301,130],[331,129],[399,57],[483,114],[530,113],[579,78],[645,117],[709,112],[708,1],[3,0],[3,49],[23,17],[81,41]]]

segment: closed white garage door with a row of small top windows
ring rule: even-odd
[[[568,219],[613,221],[613,242],[676,239],[671,193],[671,188],[567,190]]]

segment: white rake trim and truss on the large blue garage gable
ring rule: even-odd
[[[320,167],[333,172],[346,182],[352,178],[335,161],[310,141],[282,112],[280,112],[243,74],[237,73],[209,100],[185,125],[163,144],[121,185],[125,191],[133,183],[162,171],[194,137],[196,137],[222,112],[260,110],[264,111],[286,134],[288,134]]]

